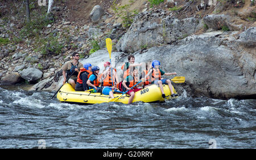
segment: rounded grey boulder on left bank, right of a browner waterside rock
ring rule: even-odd
[[[27,68],[20,72],[20,76],[28,82],[34,82],[43,76],[43,72],[37,68]]]

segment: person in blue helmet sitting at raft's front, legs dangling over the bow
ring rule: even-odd
[[[159,60],[153,60],[152,61],[152,68],[150,70],[148,70],[148,73],[144,77],[144,79],[146,79],[146,77],[149,76],[152,84],[158,84],[159,88],[162,92],[162,97],[163,98],[166,98],[166,94],[164,94],[164,90],[163,90],[163,84],[168,84],[168,87],[169,87],[170,92],[171,92],[171,97],[178,96],[177,94],[174,93],[174,90],[172,89],[171,80],[161,78],[161,76],[163,76],[163,75],[170,76],[170,75],[176,75],[177,73],[176,72],[166,73],[166,72],[162,71],[159,67],[160,67]]]

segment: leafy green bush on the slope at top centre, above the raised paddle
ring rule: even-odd
[[[130,5],[123,5],[119,7],[116,1],[117,0],[113,2],[111,8],[115,12],[115,14],[123,20],[123,27],[130,27],[131,23],[133,23],[134,16],[138,14],[137,10],[130,10],[131,3],[133,3],[134,1],[130,0]]]

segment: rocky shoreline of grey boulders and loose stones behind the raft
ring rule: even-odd
[[[202,18],[177,19],[174,12],[145,10],[126,29],[114,21],[102,23],[102,18],[109,15],[104,14],[102,8],[96,8],[101,13],[97,14],[100,18],[91,15],[91,25],[75,26],[72,22],[60,20],[42,33],[63,36],[64,27],[71,28],[68,34],[71,43],[65,44],[62,54],[49,59],[35,54],[30,47],[3,47],[0,54],[1,84],[16,84],[23,80],[35,83],[31,90],[57,90],[63,81],[60,66],[70,60],[67,55],[73,51],[88,53],[89,39],[101,37],[101,50],[80,62],[90,62],[103,68],[104,62],[109,60],[103,41],[107,36],[114,42],[112,60],[119,74],[127,56],[133,54],[137,63],[159,59],[164,71],[185,76],[184,84],[174,85],[191,96],[223,99],[256,97],[256,25],[255,22],[248,25],[239,15],[241,12],[234,16],[211,14]],[[255,6],[249,7],[245,14],[253,8]],[[76,50],[71,44],[76,46]]]

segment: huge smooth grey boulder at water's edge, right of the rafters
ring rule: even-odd
[[[251,98],[256,96],[254,32],[255,28],[250,28],[240,34],[249,36],[246,38],[254,47],[246,47],[241,38],[237,40],[238,32],[214,31],[188,36],[176,44],[137,51],[134,56],[138,63],[158,59],[164,71],[185,76],[181,86],[193,96]],[[115,67],[119,70],[127,56],[118,60],[120,63]]]

